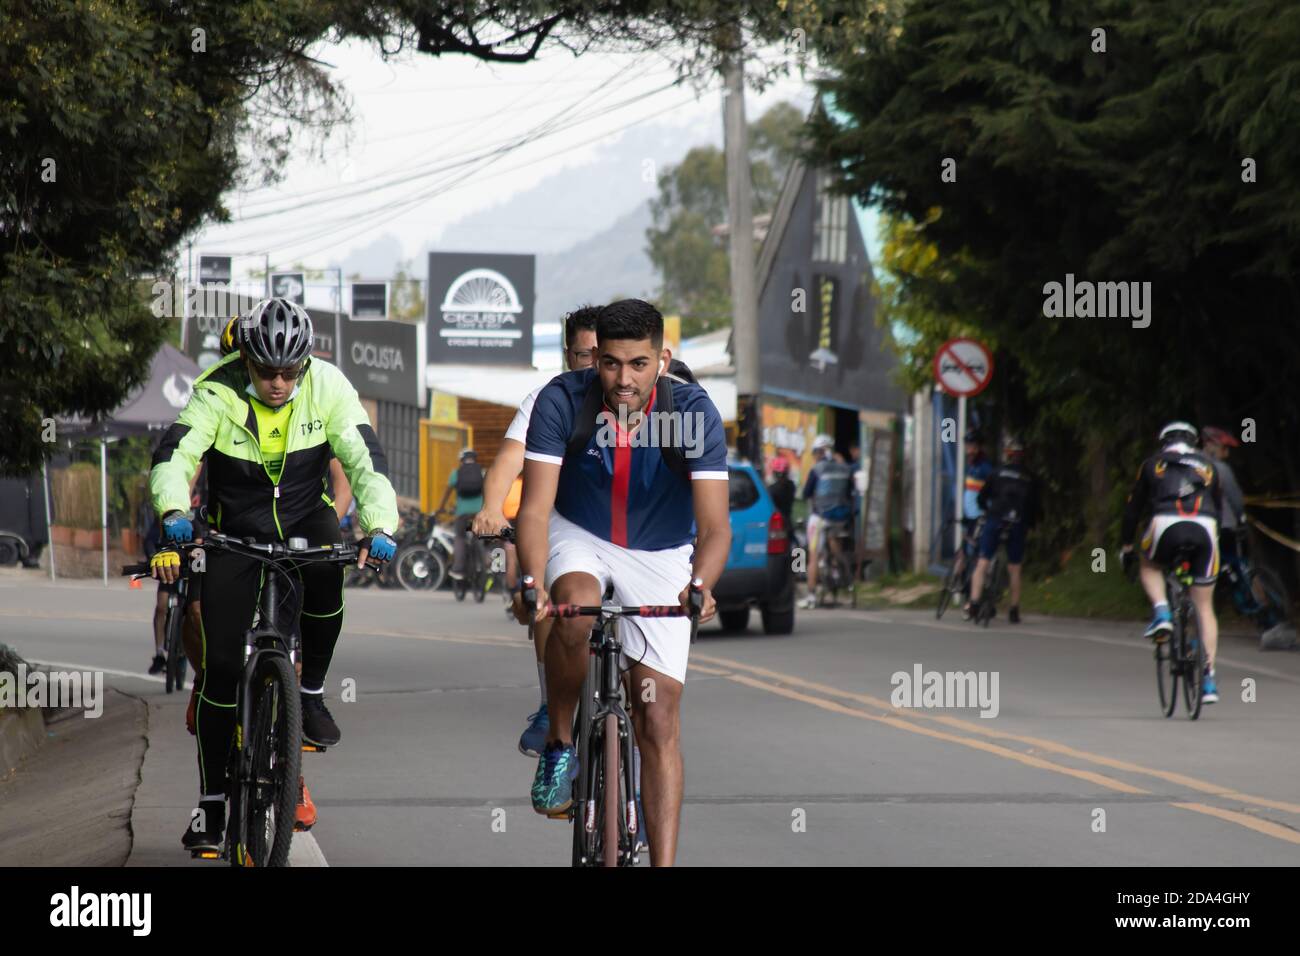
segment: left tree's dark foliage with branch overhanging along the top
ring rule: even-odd
[[[685,79],[737,23],[789,31],[771,4],[723,0],[5,0],[0,471],[39,466],[44,418],[121,403],[166,336],[134,282],[226,221],[226,191],[274,179],[304,127],[347,118],[315,44],[502,62],[671,48]]]

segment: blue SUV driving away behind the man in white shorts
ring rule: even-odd
[[[790,533],[763,476],[744,459],[727,463],[731,490],[732,548],[727,568],[714,585],[724,631],[744,631],[758,606],[764,633],[794,630],[794,571]]]

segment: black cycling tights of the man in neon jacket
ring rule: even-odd
[[[330,507],[285,528],[285,538],[304,537],[309,546],[343,540],[338,516]],[[226,757],[235,731],[235,688],[243,671],[243,636],[257,610],[264,564],[252,558],[212,549],[203,575],[203,687],[195,711],[199,736],[199,787],[202,793],[225,790]],[[269,574],[269,571],[268,571]],[[325,683],[338,632],[343,627],[343,567],[307,564],[302,579],[303,687]],[[281,576],[280,626],[292,620],[292,592]]]

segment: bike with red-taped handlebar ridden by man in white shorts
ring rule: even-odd
[[[537,589],[524,579],[524,604],[537,607]],[[690,617],[690,640],[694,643],[703,609],[703,591],[692,588],[690,607],[681,605],[614,605],[614,584],[604,589],[602,604],[551,605],[546,617],[593,617],[595,624],[588,639],[586,680],[578,695],[573,717],[573,745],[577,749],[578,775],[573,805],[560,818],[573,822],[573,866],[636,866],[637,801],[633,767],[636,737],[627,700],[619,656],[619,620],[623,618]]]

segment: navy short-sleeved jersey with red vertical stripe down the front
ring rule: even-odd
[[[673,473],[656,445],[642,429],[664,434],[650,415],[632,436],[597,427],[581,455],[564,458],[575,419],[582,408],[595,369],[564,372],[537,395],[528,423],[524,458],[559,464],[555,510],[599,538],[634,550],[679,548],[696,536],[696,510],[690,483]],[[599,388],[599,382],[597,382]],[[646,412],[655,411],[659,389],[672,389],[680,447],[692,480],[727,480],[727,434],[708,393],[699,385],[660,377]],[[602,440],[602,434],[604,440]]]

